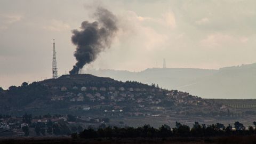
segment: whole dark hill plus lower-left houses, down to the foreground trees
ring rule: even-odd
[[[50,127],[55,133],[61,129],[68,134],[70,131],[66,130],[73,127],[75,132],[79,126],[159,126],[173,125],[175,121],[192,125],[195,118],[202,123],[213,123],[218,119],[230,121],[255,116],[228,103],[224,105],[187,92],[93,75],[63,75],[31,84],[24,82],[1,91],[0,97],[0,129],[18,135],[26,131],[21,127],[36,130],[38,125],[42,131]]]

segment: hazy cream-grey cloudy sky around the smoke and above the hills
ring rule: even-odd
[[[59,75],[75,64],[71,30],[102,6],[118,18],[110,49],[86,68],[218,69],[256,62],[256,1],[0,1],[0,86]]]

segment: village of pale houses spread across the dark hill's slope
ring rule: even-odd
[[[87,111],[89,114],[92,111],[94,115],[106,116],[159,116],[163,113],[193,114],[189,107],[203,107],[209,111],[212,106],[210,102],[187,92],[169,91],[155,84],[122,83],[110,78],[101,78],[102,82],[95,79],[92,82],[87,78],[87,81],[80,83],[69,75],[59,79],[66,79],[66,82],[59,85],[53,82],[43,84],[52,91],[51,103],[69,103],[66,106],[71,111]],[[69,79],[76,79],[76,83],[69,83]]]

